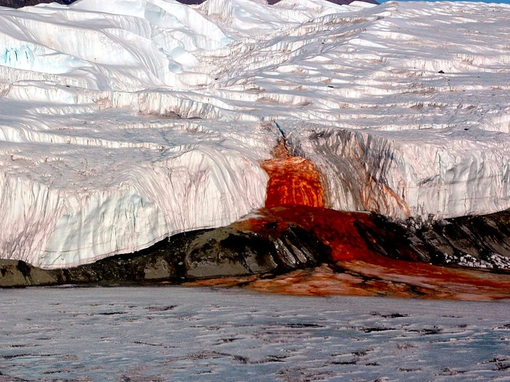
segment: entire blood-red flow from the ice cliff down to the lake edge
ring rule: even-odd
[[[324,208],[319,171],[310,160],[289,155],[283,143],[275,150],[275,159],[261,165],[270,177],[266,208],[259,210],[256,218],[235,222],[233,227],[251,232],[301,227],[331,248],[331,262],[274,278],[247,276],[198,283],[243,285],[293,295],[510,298],[508,274],[416,261],[418,254],[404,238],[381,227],[375,214]],[[382,243],[389,245],[398,259],[383,253]]]

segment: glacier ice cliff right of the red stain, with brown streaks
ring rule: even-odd
[[[508,208],[506,134],[478,129],[367,132],[290,129],[296,153],[322,169],[329,205],[397,218],[445,218]],[[303,138],[304,137],[304,138]]]

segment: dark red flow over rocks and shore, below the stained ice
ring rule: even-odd
[[[247,288],[291,295],[357,295],[419,297],[432,299],[508,299],[510,276],[481,269],[442,267],[413,261],[418,257],[384,227],[375,224],[375,215],[334,211],[308,206],[263,208],[258,218],[236,222],[237,229],[261,232],[277,227],[282,232],[295,225],[313,232],[331,248],[331,263],[275,278],[244,280]],[[370,237],[359,227],[369,228]],[[399,260],[374,250],[385,241],[394,243]],[[236,285],[233,279],[221,281]]]

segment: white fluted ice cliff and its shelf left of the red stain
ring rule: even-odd
[[[266,197],[259,142],[276,138],[259,123],[234,135],[226,122],[125,111],[37,117],[1,123],[0,250],[12,258],[51,268],[130,253],[227,225]]]

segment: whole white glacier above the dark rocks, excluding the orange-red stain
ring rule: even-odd
[[[46,269],[264,206],[282,133],[329,208],[510,208],[510,6],[0,7],[0,257]]]

